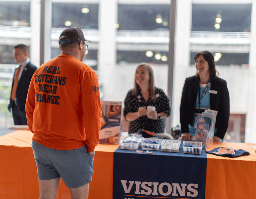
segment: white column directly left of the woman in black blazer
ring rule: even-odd
[[[177,1],[176,33],[175,33],[175,66],[173,75],[173,105],[172,124],[176,126],[179,121],[180,98],[185,78],[189,74],[190,66],[190,32],[192,21],[192,0]]]

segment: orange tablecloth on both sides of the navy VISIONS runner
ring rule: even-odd
[[[36,163],[31,148],[32,135],[30,131],[17,130],[0,136],[0,198],[39,197]],[[250,155],[227,158],[207,154],[205,198],[255,198],[256,153],[251,145],[256,144],[214,143],[212,147],[207,148],[241,148],[250,152]],[[114,151],[118,147],[119,145],[111,144],[96,146],[89,199],[112,199],[113,159]],[[70,197],[68,188],[61,181],[56,198]]]

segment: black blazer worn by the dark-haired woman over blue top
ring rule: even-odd
[[[193,115],[198,96],[199,77],[188,77],[185,80],[182,97],[180,102],[180,125],[181,131],[188,133],[188,124],[193,125]],[[215,134],[223,139],[228,129],[229,120],[229,92],[227,82],[221,78],[211,80],[211,90],[217,91],[217,94],[210,93],[211,110],[217,110]]]

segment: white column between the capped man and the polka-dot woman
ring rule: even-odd
[[[114,100],[117,92],[114,91],[116,66],[116,28],[118,18],[118,3],[116,0],[99,2],[99,31],[100,42],[98,48],[98,75],[99,83],[103,87],[103,99]]]

